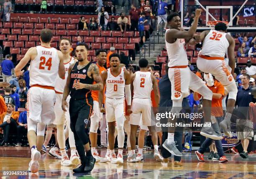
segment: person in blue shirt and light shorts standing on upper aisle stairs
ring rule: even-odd
[[[165,0],[164,0],[165,1]],[[159,0],[158,9],[157,9],[157,33],[159,33],[160,23],[164,23],[164,31],[166,31],[167,25],[167,3],[162,0]]]

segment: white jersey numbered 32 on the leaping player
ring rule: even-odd
[[[211,30],[203,41],[202,55],[224,57],[228,50],[228,40],[224,32]]]

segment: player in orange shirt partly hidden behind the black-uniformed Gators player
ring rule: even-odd
[[[99,68],[100,74],[106,71],[103,66],[107,61],[107,51],[104,49],[99,49],[96,51],[97,63],[96,65]],[[96,82],[94,82],[95,84]],[[100,112],[99,100],[98,100],[99,91],[92,91],[93,99],[93,113],[91,116],[91,126],[90,126],[90,141],[92,147],[92,156],[96,159],[96,162],[100,161],[99,153],[97,152],[97,130],[99,128],[99,122],[102,120],[103,114]]]

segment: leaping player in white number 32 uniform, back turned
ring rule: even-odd
[[[197,67],[202,72],[211,73],[215,78],[223,84],[228,91],[227,113],[224,120],[220,123],[223,132],[231,137],[230,118],[236,103],[237,87],[233,78],[235,70],[235,40],[227,34],[227,25],[225,23],[217,23],[215,30],[203,31],[200,33],[200,41],[203,42],[202,51],[197,58]],[[192,39],[191,42],[195,40]],[[228,51],[227,68],[224,58]],[[207,80],[207,79],[206,79]]]

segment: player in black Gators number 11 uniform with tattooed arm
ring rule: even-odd
[[[95,158],[92,156],[90,149],[89,138],[84,128],[90,119],[93,107],[91,90],[102,90],[102,80],[97,65],[87,60],[87,56],[89,55],[88,49],[85,43],[79,43],[76,47],[78,62],[69,66],[69,75],[64,88],[61,105],[62,110],[67,111],[66,100],[70,93],[70,128],[74,133],[77,151],[81,159],[81,166],[73,169],[75,173],[90,172],[95,164]],[[96,84],[93,84],[94,81]]]

